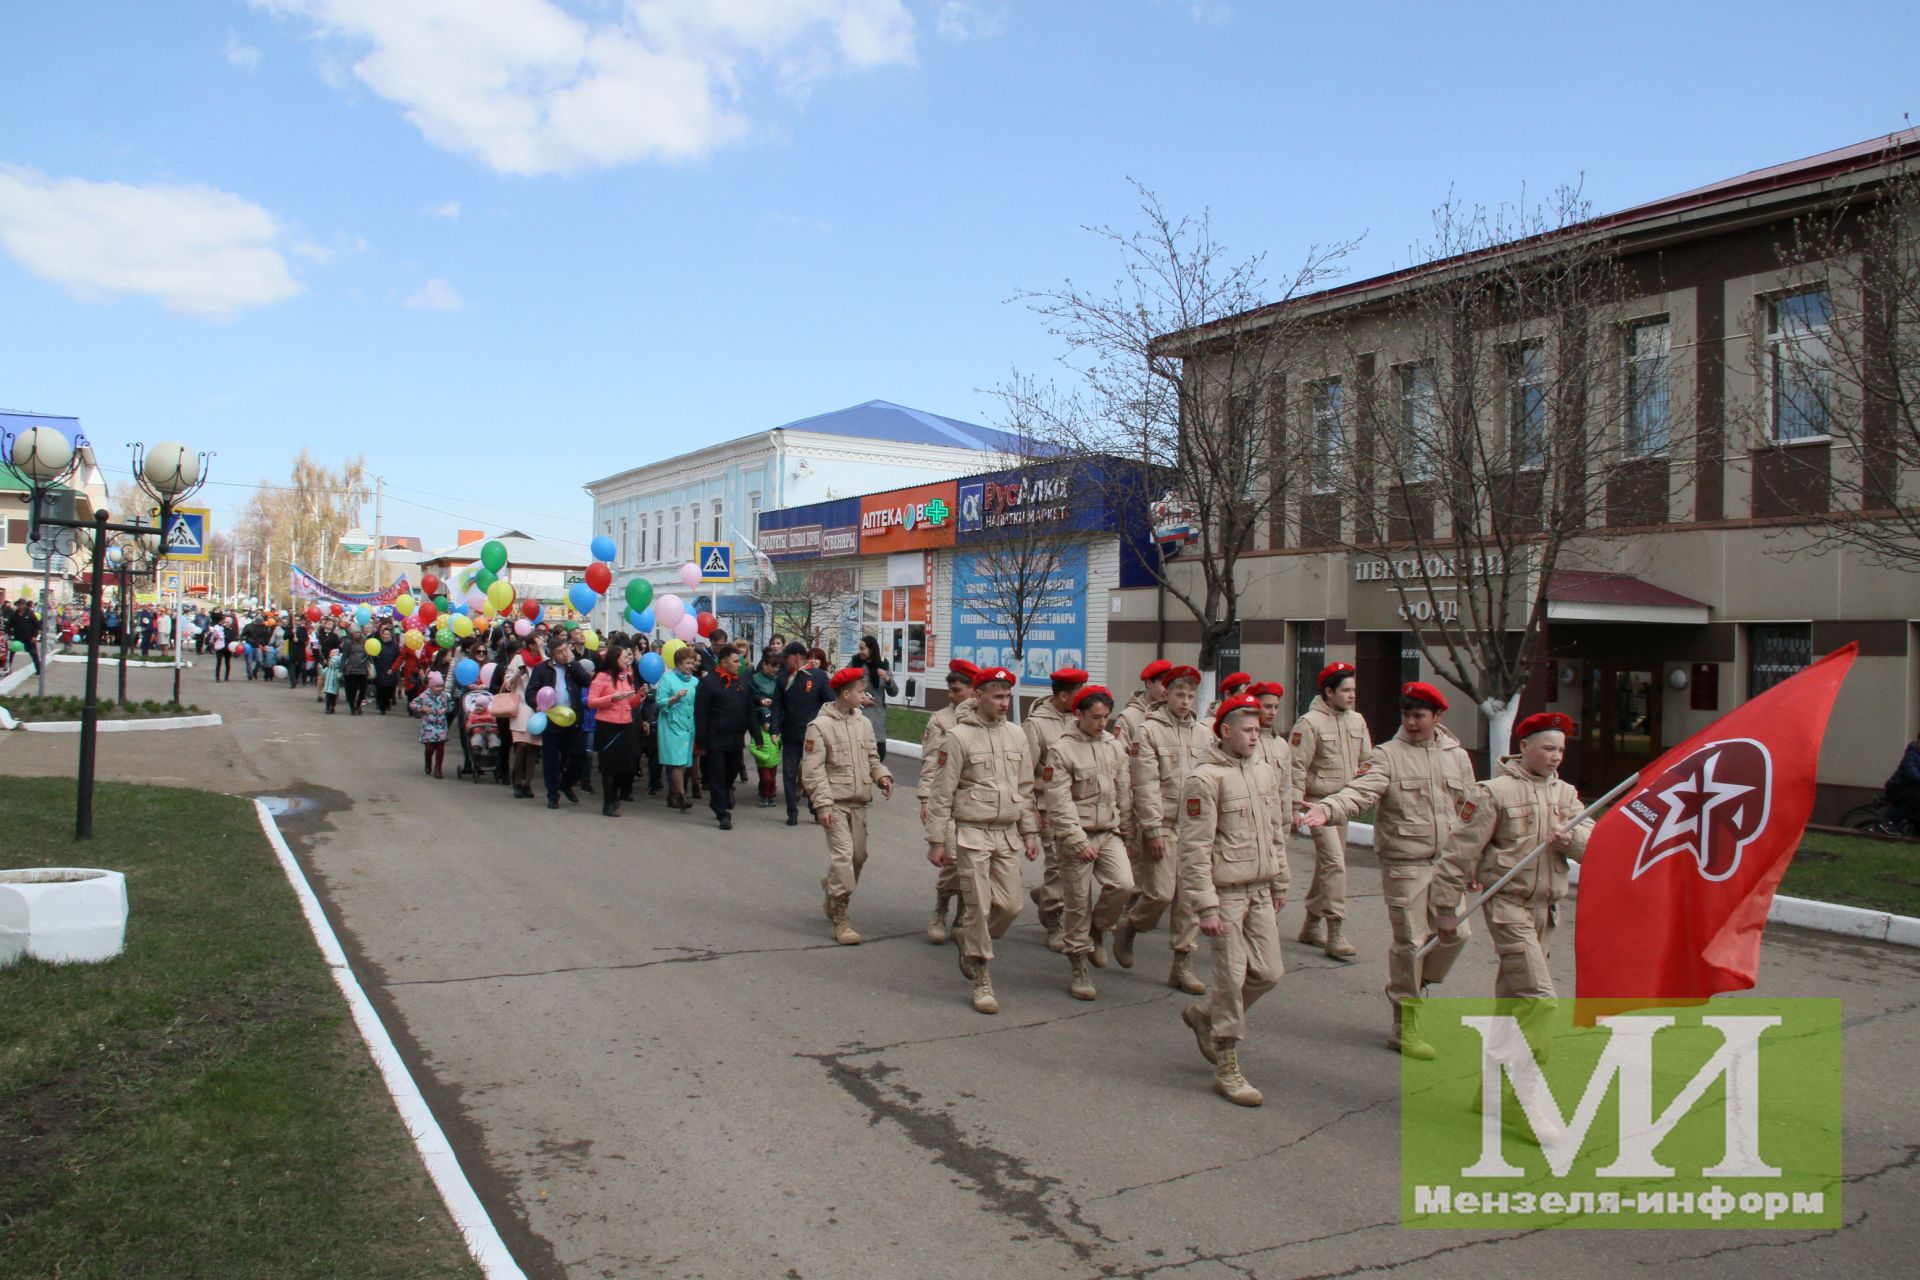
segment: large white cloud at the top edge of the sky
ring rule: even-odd
[[[307,19],[434,146],[497,173],[691,159],[751,130],[758,77],[804,90],[837,67],[912,63],[902,0],[250,0]]]

